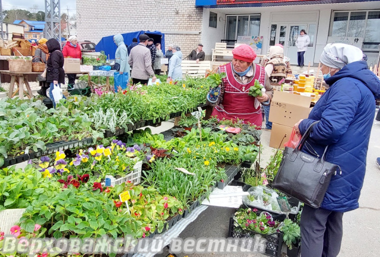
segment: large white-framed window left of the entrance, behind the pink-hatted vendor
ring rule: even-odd
[[[258,36],[260,31],[260,14],[226,15],[224,40],[234,45],[237,36]]]

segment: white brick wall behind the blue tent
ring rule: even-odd
[[[202,15],[195,0],[76,0],[76,35],[97,43],[117,33],[159,30],[165,33],[166,49],[176,44],[184,57],[200,42]]]

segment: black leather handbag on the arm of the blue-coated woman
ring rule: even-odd
[[[317,122],[319,121],[313,122],[307,128],[295,149],[285,146],[272,183],[272,187],[314,208],[320,207],[331,176],[336,174],[337,168],[340,169],[338,165],[324,160],[327,146],[320,159],[299,150],[302,149]]]

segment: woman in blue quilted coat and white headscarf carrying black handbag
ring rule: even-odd
[[[361,58],[362,52],[355,46],[327,44],[320,62],[323,78],[330,87],[308,118],[294,125],[303,134],[312,122],[319,120],[307,141],[319,156],[328,145],[325,160],[341,168],[341,173],[332,176],[321,207],[305,205],[302,210],[301,256],[336,256],[342,238],[343,212],[359,207],[375,113],[374,95],[380,94],[380,80]],[[310,152],[313,150],[302,149],[315,154]]]

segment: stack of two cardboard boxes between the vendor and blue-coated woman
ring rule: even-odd
[[[274,91],[269,112],[269,121],[272,122],[270,147],[284,147],[283,144],[289,140],[294,124],[308,117],[311,110],[310,102],[309,96]]]

